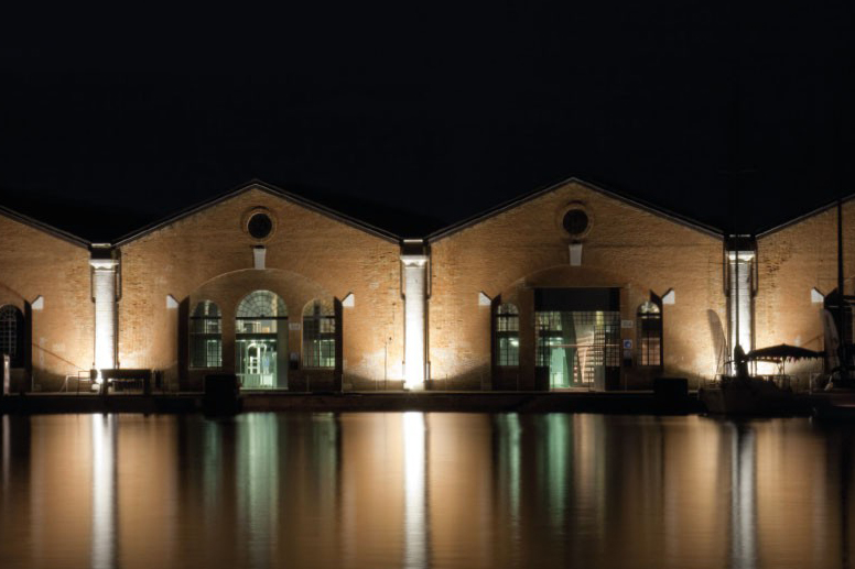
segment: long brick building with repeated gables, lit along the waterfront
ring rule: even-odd
[[[822,349],[836,286],[833,208],[727,237],[576,179],[418,239],[262,183],[111,243],[2,209],[0,239],[0,349],[45,391],[93,369],[182,391],[695,384],[737,342]]]

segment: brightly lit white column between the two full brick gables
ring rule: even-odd
[[[407,390],[424,389],[424,329],[428,255],[402,254],[404,314],[404,382]]]

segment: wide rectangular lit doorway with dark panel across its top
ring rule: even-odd
[[[620,377],[617,288],[535,291],[537,365],[542,387],[616,386]]]

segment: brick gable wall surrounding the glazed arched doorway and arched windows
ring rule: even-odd
[[[267,269],[252,269],[259,243],[243,221],[253,208],[267,208],[277,227],[267,247]],[[123,368],[178,375],[178,310],[166,295],[192,306],[207,297],[224,314],[224,335],[234,335],[234,314],[246,294],[261,288],[284,299],[291,321],[300,321],[315,297],[343,299],[344,381],[357,387],[383,379],[400,380],[402,310],[399,245],[329,216],[257,188],[236,194],[120,247],[122,297],[119,303],[119,361]],[[230,330],[230,332],[229,332]],[[289,351],[301,352],[301,332],[289,337]],[[224,364],[232,362],[224,346]],[[385,366],[386,362],[386,366]],[[290,377],[295,375],[290,374]]]

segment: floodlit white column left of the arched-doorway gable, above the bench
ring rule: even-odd
[[[115,259],[91,259],[95,302],[95,368],[116,368],[116,270]]]

